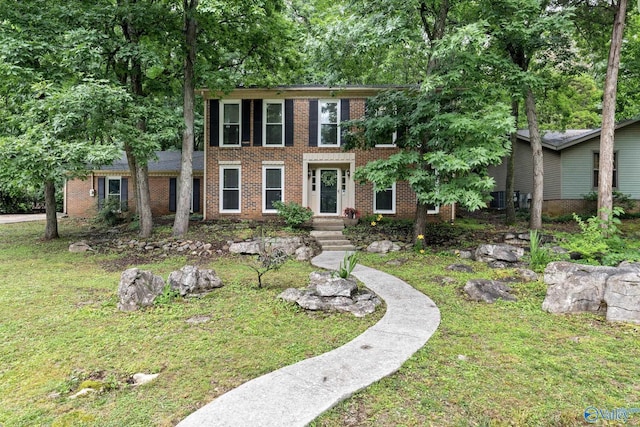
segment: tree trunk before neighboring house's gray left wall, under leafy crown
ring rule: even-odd
[[[544,163],[542,158],[542,138],[538,129],[536,99],[531,88],[527,88],[527,97],[524,105],[529,125],[529,141],[533,151],[533,194],[531,195],[529,228],[540,230],[542,229],[542,200],[544,197]]]

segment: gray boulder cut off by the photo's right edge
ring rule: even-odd
[[[640,272],[613,275],[604,291],[607,320],[640,323]]]

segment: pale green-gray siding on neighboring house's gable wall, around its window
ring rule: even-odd
[[[562,151],[562,198],[582,199],[593,187],[593,153],[600,151],[600,138]],[[618,191],[640,199],[640,124],[616,131]]]

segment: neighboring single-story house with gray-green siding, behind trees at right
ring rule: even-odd
[[[584,196],[598,189],[600,129],[543,132],[544,202],[546,215],[584,212]],[[521,207],[528,207],[533,192],[533,164],[529,131],[518,131],[515,147],[514,190]],[[504,207],[506,159],[489,168],[496,181],[492,207]],[[616,125],[613,187],[633,200],[640,200],[640,118]]]

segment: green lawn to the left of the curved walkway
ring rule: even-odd
[[[313,268],[289,261],[265,275],[242,257],[213,268],[225,286],[132,313],[116,308],[124,255],[72,254],[82,232],[61,221],[59,241],[42,242],[42,223],[0,225],[0,425],[168,426],[251,378],[350,341],[383,314],[309,315],[275,296],[305,286]],[[181,256],[139,267],[165,279]],[[208,323],[189,324],[195,315]],[[137,372],[154,382],[127,383]],[[86,380],[102,391],[70,399]],[[91,384],[91,383],[90,383]],[[93,383],[95,385],[95,383]]]

